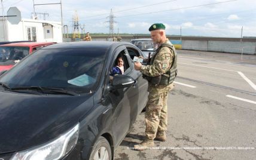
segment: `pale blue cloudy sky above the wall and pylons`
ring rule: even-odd
[[[30,19],[33,0],[2,0],[4,13],[17,7],[22,18]],[[109,33],[109,14],[114,15],[114,33],[150,33],[153,23],[163,23],[167,35],[256,37],[256,0],[62,0],[63,25],[69,33],[74,15],[85,32]],[[60,0],[34,0],[37,13],[48,13],[46,20],[61,21]],[[2,7],[0,7],[2,11]],[[2,12],[0,13],[0,15]],[[44,19],[44,16],[38,16]],[[243,27],[243,29],[242,29]],[[81,29],[80,29],[81,30]]]

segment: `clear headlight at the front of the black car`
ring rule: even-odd
[[[58,139],[13,155],[11,160],[57,160],[63,158],[77,143],[79,124]]]

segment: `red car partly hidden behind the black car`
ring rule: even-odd
[[[28,56],[28,54],[51,44],[55,44],[55,42],[22,42],[0,45],[0,72],[11,69],[14,64]]]

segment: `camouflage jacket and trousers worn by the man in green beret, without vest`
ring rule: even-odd
[[[170,42],[167,39],[164,43]],[[154,61],[150,61],[148,66],[141,67],[141,72],[144,75],[159,76],[170,69],[174,53],[169,47],[162,47],[154,54],[156,54]],[[149,82],[148,91],[150,94],[148,95],[145,112],[146,140],[153,141],[157,133],[164,133],[167,130],[167,94],[173,87],[173,83],[169,85],[153,85]]]

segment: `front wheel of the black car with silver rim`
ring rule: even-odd
[[[109,160],[112,159],[111,148],[104,137],[99,137],[93,146],[90,160]]]

